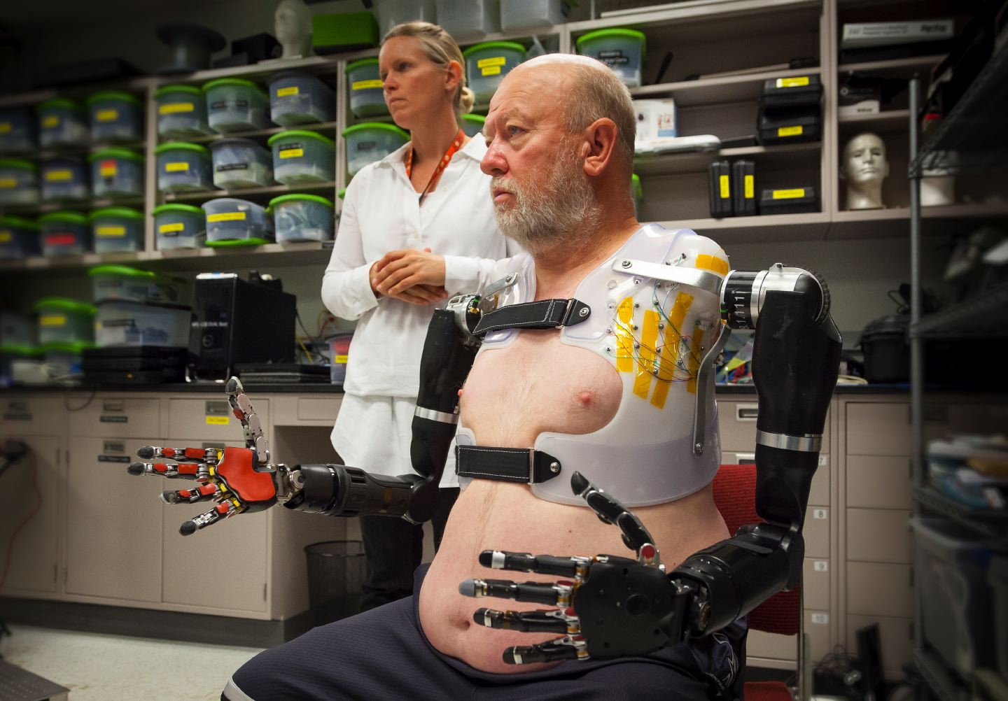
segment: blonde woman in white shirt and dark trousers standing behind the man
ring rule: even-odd
[[[494,262],[519,251],[494,222],[490,177],[480,171],[486,144],[459,126],[474,97],[464,64],[455,39],[435,24],[406,22],[385,35],[379,77],[410,141],[347,187],[323,280],[330,311],[358,320],[333,447],[346,464],[372,473],[411,470],[410,425],[433,309],[450,295],[480,291]],[[435,547],[459,492],[451,455],[440,485]],[[361,609],[410,595],[421,527],[381,516],[360,521],[368,560]]]

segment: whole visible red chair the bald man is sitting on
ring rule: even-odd
[[[714,501],[733,535],[745,524],[762,521],[756,514],[756,465],[722,465],[714,478]],[[749,612],[749,629],[794,636],[799,633],[801,595],[797,588],[781,591]],[[798,640],[798,689],[803,689]],[[743,661],[744,663],[745,661]],[[744,669],[744,667],[743,667]],[[746,682],[745,701],[794,701],[795,695],[784,682]]]

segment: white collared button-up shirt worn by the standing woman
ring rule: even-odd
[[[481,291],[492,282],[494,263],[521,251],[494,222],[490,176],[480,170],[487,150],[482,138],[456,152],[422,206],[406,176],[408,148],[365,166],[350,182],[323,278],[326,307],[359,319],[344,383],[348,394],[416,397],[423,339],[438,306],[375,298],[368,279],[375,261],[397,249],[429,248],[445,256],[445,288],[453,295]]]

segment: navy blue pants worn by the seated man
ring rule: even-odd
[[[734,701],[746,623],[646,657],[563,662],[491,674],[437,652],[420,629],[417,594],[322,625],[264,651],[232,676],[223,701]],[[503,649],[502,649],[503,652]]]

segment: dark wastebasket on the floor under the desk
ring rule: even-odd
[[[304,547],[308,563],[308,603],[316,625],[355,615],[367,572],[364,543],[326,541]]]

